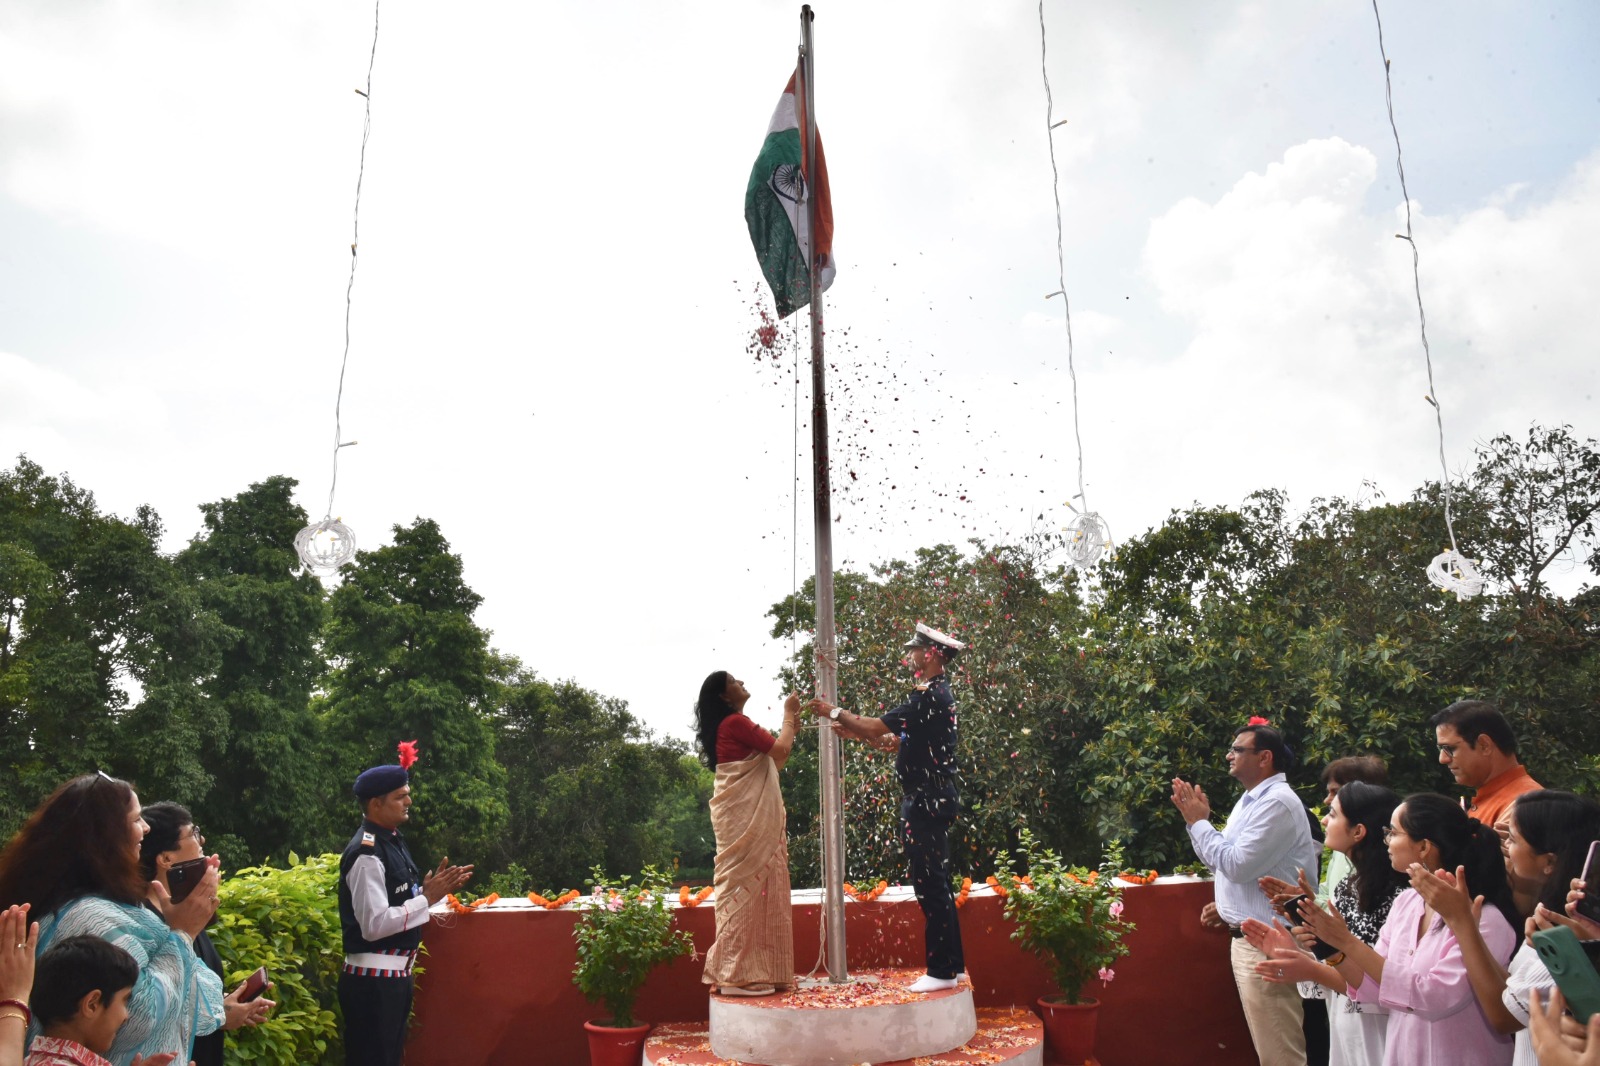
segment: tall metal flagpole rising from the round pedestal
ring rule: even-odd
[[[800,8],[798,96],[800,144],[805,166],[816,166],[816,98],[811,67],[811,5]],[[827,469],[827,383],[822,362],[822,287],[816,261],[816,197],[811,173],[805,174],[806,256],[811,277],[811,499],[816,517],[816,687],[818,695],[838,704],[838,658],[834,650],[834,506]],[[822,775],[822,917],[827,930],[827,980],[848,981],[845,965],[845,820],[840,802],[838,736],[826,725],[818,730],[818,762]]]

